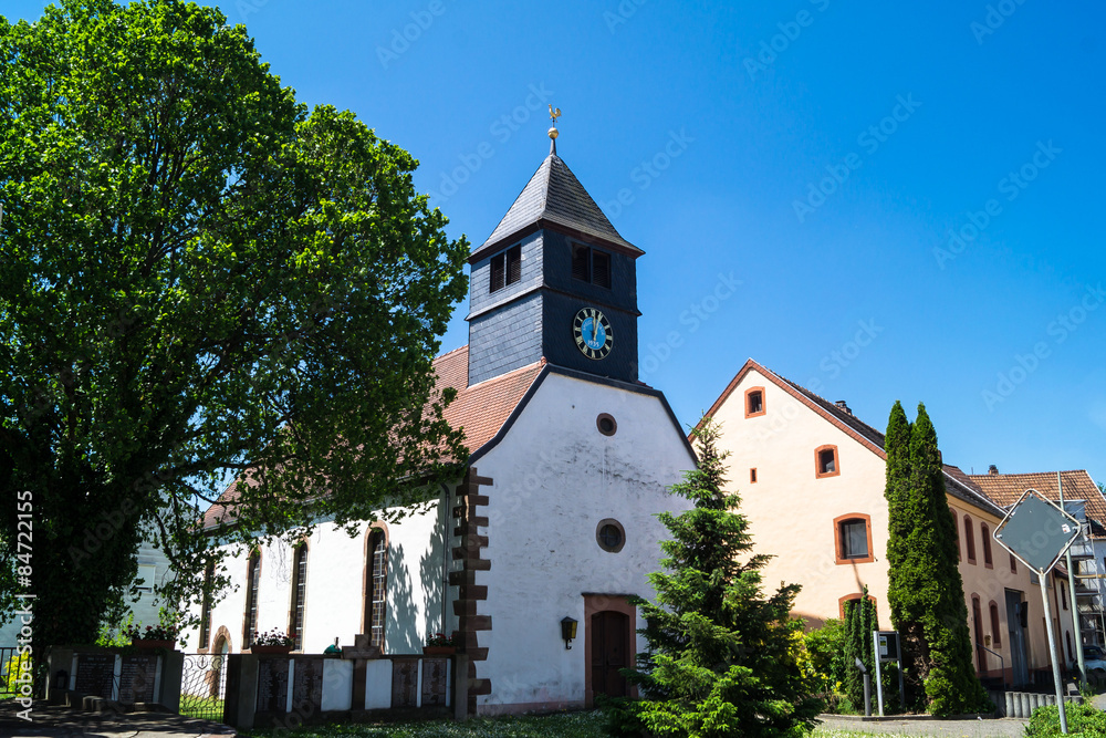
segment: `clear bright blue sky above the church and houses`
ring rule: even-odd
[[[476,245],[560,107],[560,155],[646,251],[643,378],[682,423],[753,357],[879,428],[925,402],[967,471],[1106,480],[1102,4],[221,7],[301,101],[410,150]]]

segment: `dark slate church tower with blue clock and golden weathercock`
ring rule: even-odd
[[[557,156],[557,114],[550,155],[469,257],[470,386],[543,357],[637,381],[644,251],[618,235]]]

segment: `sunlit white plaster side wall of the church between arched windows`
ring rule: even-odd
[[[427,633],[441,628],[442,588],[446,578],[446,541],[439,499],[425,513],[386,523],[388,530],[388,609],[385,652],[420,653]],[[448,521],[451,523],[451,521]],[[337,637],[353,644],[363,632],[365,534],[359,526],[351,538],[332,523],[320,523],[307,539],[306,602],[303,616],[304,653],[321,653]],[[452,533],[452,527],[448,530]],[[227,560],[228,574],[238,585],[211,611],[211,645],[220,626],[230,632],[232,651],[242,648],[248,554]],[[261,549],[258,630],[289,628],[292,606],[292,549],[282,541]],[[198,613],[198,609],[196,610]],[[448,625],[448,623],[447,623]],[[188,633],[187,651],[195,651],[198,631]]]

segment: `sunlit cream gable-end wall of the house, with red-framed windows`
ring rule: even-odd
[[[765,413],[745,418],[745,389],[758,386]],[[714,419],[719,446],[730,451],[728,489],[741,495],[754,551],[774,557],[764,569],[765,588],[802,584],[793,612],[816,625],[837,617],[838,599],[867,584],[880,627],[890,627],[884,460],[757,371],[742,377]],[[825,445],[837,446],[841,474],[817,479],[814,449]],[[835,563],[833,520],[849,512],[872,516],[875,561]]]

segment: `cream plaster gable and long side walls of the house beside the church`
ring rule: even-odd
[[[765,414],[744,417],[744,393],[750,387],[764,387]],[[750,522],[754,550],[775,558],[764,570],[765,586],[780,582],[797,583],[802,591],[795,599],[793,614],[818,626],[830,617],[838,617],[838,599],[860,592],[867,584],[876,597],[879,626],[890,628],[887,605],[887,501],[886,462],[867,445],[855,440],[834,424],[815,413],[790,393],[780,388],[757,371],[742,377],[729,398],[716,412],[721,425],[720,447],[730,451],[729,486],[741,495],[741,512]],[[814,471],[814,449],[837,446],[841,474],[818,479]],[[757,482],[750,482],[749,470],[757,469]],[[1029,571],[1019,565],[1010,570],[1009,555],[992,541],[992,562],[983,561],[981,522],[994,531],[1000,518],[959,498],[949,496],[949,507],[957,511],[960,549],[964,551],[963,516],[972,521],[975,540],[975,563],[963,557],[960,575],[963,580],[969,627],[972,625],[973,594],[980,597],[983,616],[982,632],[992,637],[991,648],[998,652],[1005,668],[1011,666],[1009,636],[1002,633],[1001,644],[993,641],[988,605],[999,606],[1000,625],[1005,626],[1005,590],[1020,591],[1030,603],[1029,663],[1030,668],[1048,666],[1047,640],[1042,625],[1043,609],[1040,588],[1030,583]],[[837,564],[833,520],[849,512],[872,516],[872,543],[875,561],[859,564]],[[1048,601],[1056,616],[1053,590]],[[1061,610],[1061,628],[1071,628],[1071,612]],[[1064,623],[1066,622],[1066,626]],[[1063,633],[1057,638],[1064,643]],[[1066,645],[1065,645],[1066,651]],[[998,676],[1000,662],[988,657],[988,668]]]

